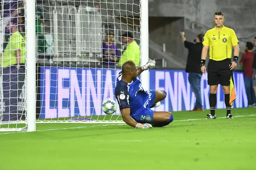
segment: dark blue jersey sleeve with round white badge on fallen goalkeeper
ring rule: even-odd
[[[127,86],[124,88],[117,87],[116,88],[116,99],[119,104],[120,110],[123,108],[130,108],[129,99],[130,94],[128,92]]]

